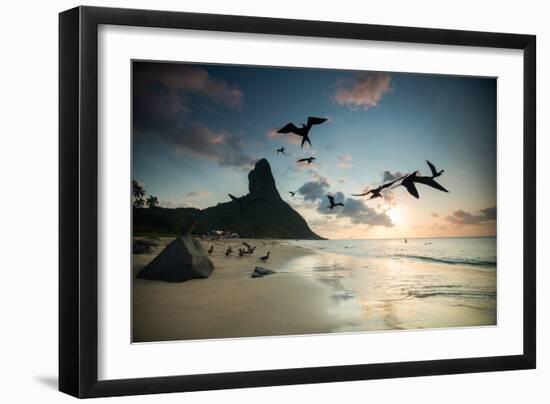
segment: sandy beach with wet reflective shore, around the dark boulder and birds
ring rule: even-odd
[[[405,265],[286,240],[216,240],[203,242],[215,246],[207,279],[136,279],[169,241],[133,256],[134,342],[496,324],[496,271]],[[243,241],[257,246],[254,255],[224,255]],[[255,266],[277,273],[254,279]]]

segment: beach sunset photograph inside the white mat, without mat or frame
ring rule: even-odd
[[[496,78],[131,69],[133,343],[497,325]]]

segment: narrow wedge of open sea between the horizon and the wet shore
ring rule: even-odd
[[[496,237],[414,238],[385,240],[301,240],[314,250],[398,262],[425,262],[496,269]]]

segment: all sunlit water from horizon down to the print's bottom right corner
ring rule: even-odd
[[[343,318],[339,331],[497,324],[495,237],[291,244],[315,252],[287,271],[333,290],[331,315]]]

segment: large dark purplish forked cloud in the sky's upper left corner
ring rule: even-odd
[[[189,97],[204,97],[232,109],[242,107],[243,92],[204,68],[176,63],[135,63],[133,69],[134,140],[159,140],[176,153],[250,168],[256,158],[242,136],[193,121]]]

